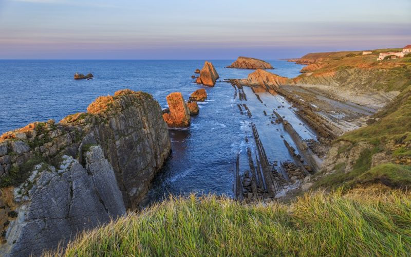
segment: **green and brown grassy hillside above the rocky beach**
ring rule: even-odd
[[[348,132],[338,139],[350,141],[353,144],[366,141],[373,145],[373,149],[365,150],[361,154],[352,172],[344,173],[342,163],[339,167],[334,167],[337,172],[317,181],[315,188],[340,187],[343,184],[353,186],[356,183],[369,181],[380,181],[395,187],[411,187],[409,166],[384,164],[370,170],[372,154],[385,152],[394,159],[411,156],[411,58],[376,61],[379,52],[398,50],[401,49],[373,50],[373,54],[368,56],[353,55],[361,54],[361,51],[312,53],[302,58],[324,64],[313,74],[352,67],[371,68],[375,72],[368,79],[370,85],[377,90],[399,90],[401,92],[397,98],[373,117],[379,118],[377,122]],[[397,148],[391,149],[392,146]],[[402,181],[399,181],[401,179]]]

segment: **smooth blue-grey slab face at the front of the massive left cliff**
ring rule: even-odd
[[[35,169],[31,180],[32,188],[24,184],[14,190],[15,200],[22,204],[7,230],[2,255],[37,255],[45,247],[57,246],[61,240],[67,243],[77,231],[125,214],[114,170],[100,146],[87,152],[86,168],[64,156],[59,170],[51,166]],[[16,193],[19,191],[20,194]],[[23,194],[28,195],[26,201],[21,197]]]

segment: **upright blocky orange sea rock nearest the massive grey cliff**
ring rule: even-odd
[[[169,112],[163,114],[164,121],[169,127],[190,126],[190,109],[181,93],[174,92],[167,96]]]

